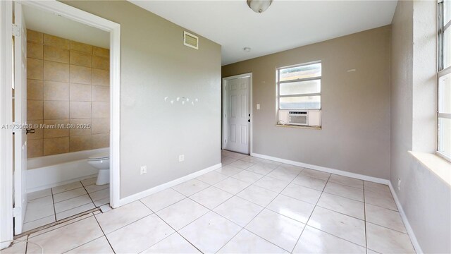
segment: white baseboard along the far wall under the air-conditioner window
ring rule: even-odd
[[[352,172],[343,171],[343,170],[339,170],[339,169],[330,169],[327,167],[316,166],[316,165],[307,164],[307,163],[303,163],[303,162],[295,162],[295,161],[292,161],[289,159],[280,159],[278,157],[272,157],[272,156],[268,156],[268,155],[260,155],[257,153],[252,153],[251,156],[258,157],[261,159],[271,159],[275,162],[282,162],[285,164],[290,164],[290,165],[294,165],[294,166],[298,166],[298,167],[306,167],[309,169],[315,169],[318,171],[323,171],[323,172],[327,172],[327,173],[331,173],[331,174],[338,174],[340,176],[352,177],[354,179],[360,179],[360,180],[364,180],[364,181],[371,181],[374,183],[382,183],[382,184],[390,183],[390,181],[388,179],[381,179],[381,178],[373,177],[373,176],[365,176],[362,174],[355,174]]]

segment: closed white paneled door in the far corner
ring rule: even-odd
[[[224,85],[224,149],[249,154],[251,78],[226,79]]]

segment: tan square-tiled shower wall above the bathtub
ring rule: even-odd
[[[109,147],[109,49],[27,30],[27,156]]]

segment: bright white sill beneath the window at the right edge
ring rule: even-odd
[[[424,167],[431,170],[436,176],[451,186],[451,163],[438,155],[427,152],[409,151]]]

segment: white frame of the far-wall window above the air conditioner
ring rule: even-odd
[[[286,69],[286,68],[294,68],[294,67],[299,67],[299,66],[309,66],[312,64],[316,64],[316,63],[320,63],[321,64],[321,75],[319,77],[314,77],[314,78],[298,78],[295,80],[288,80],[288,81],[280,81],[280,70]],[[295,64],[292,66],[283,66],[283,67],[279,67],[276,69],[276,83],[277,83],[277,109],[279,110],[321,110],[322,104],[320,102],[320,106],[319,109],[299,109],[299,108],[290,108],[290,109],[280,109],[280,98],[286,98],[286,97],[309,97],[309,96],[319,96],[321,97],[321,90],[322,90],[322,82],[321,82],[321,78],[323,76],[323,63],[321,63],[321,61],[313,61],[313,62],[309,62],[309,63],[300,63],[300,64]],[[302,93],[302,94],[296,94],[296,95],[280,95],[280,84],[282,83],[297,83],[297,82],[302,82],[302,81],[309,81],[309,80],[319,80],[320,82],[320,90],[319,92],[315,92],[315,93]]]

